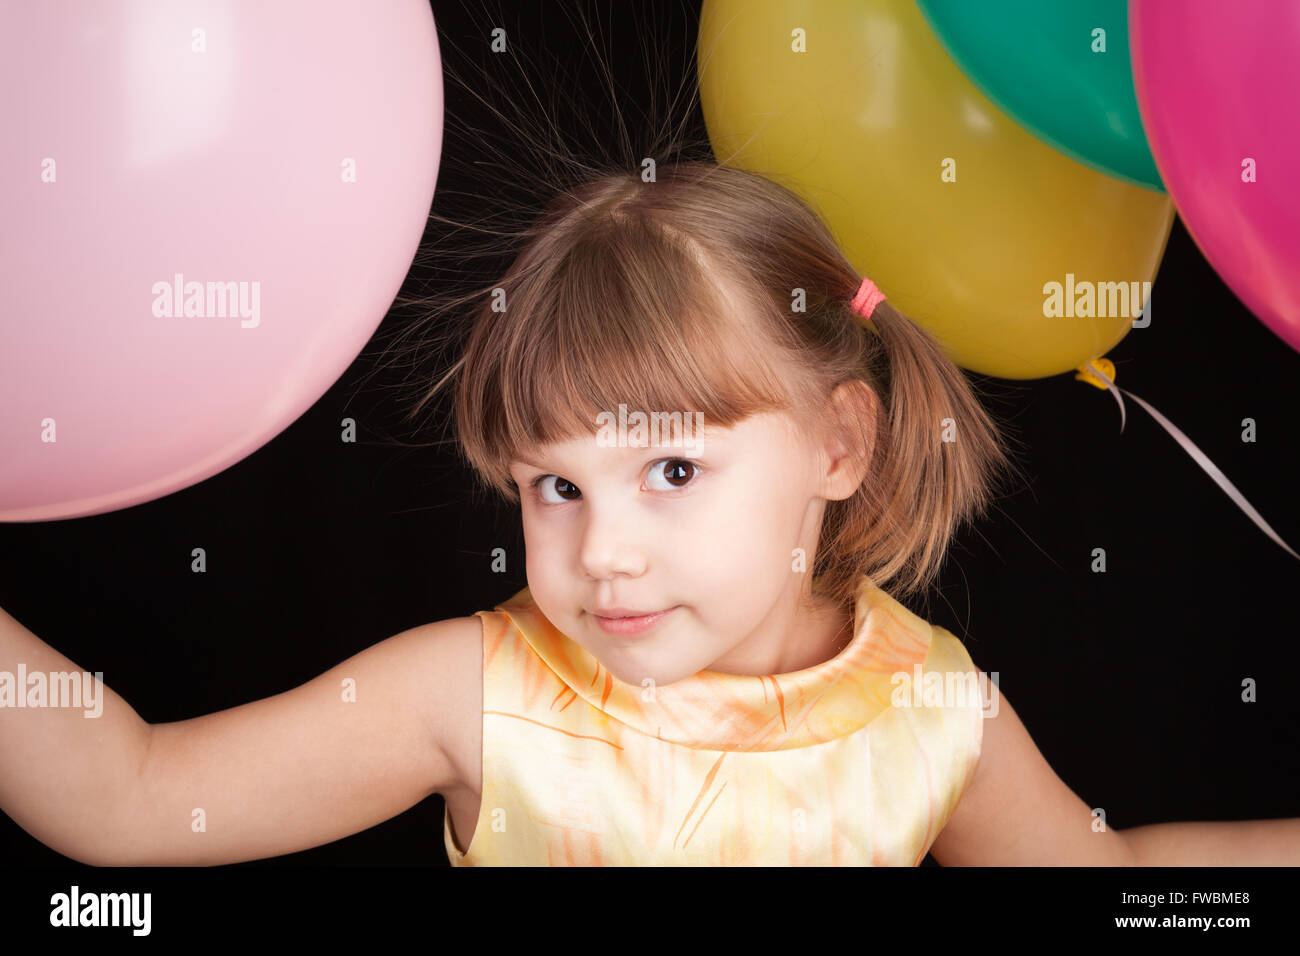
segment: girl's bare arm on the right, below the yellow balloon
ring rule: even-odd
[[[979,670],[979,669],[976,669]],[[931,847],[945,866],[1300,864],[1300,819],[1156,823],[1101,830],[1062,783],[997,685],[975,779]]]

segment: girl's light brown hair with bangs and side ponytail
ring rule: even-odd
[[[827,502],[812,575],[837,602],[861,575],[901,600],[928,588],[1014,472],[963,372],[889,302],[871,329],[852,312],[861,276],[793,191],[711,160],[660,163],[650,182],[638,166],[582,166],[515,234],[506,273],[446,303],[473,304],[462,354],[419,384],[406,421],[452,385],[464,460],[517,505],[510,462],[593,434],[620,403],[699,411],[708,427],[763,411],[810,425],[857,380],[878,399],[862,423],[870,468]]]

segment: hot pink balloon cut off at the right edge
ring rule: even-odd
[[[1300,350],[1300,3],[1131,0],[1128,36],[1147,139],[1188,233]]]

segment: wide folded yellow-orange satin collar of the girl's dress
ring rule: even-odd
[[[707,750],[783,750],[854,734],[890,706],[893,675],[909,678],[930,653],[931,626],[863,575],[857,585],[853,639],[812,667],[748,676],[702,670],[672,684],[642,688],[610,674],[562,633],[524,588],[497,605],[572,696],[647,736]]]

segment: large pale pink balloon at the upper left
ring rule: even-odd
[[[442,152],[428,0],[5,4],[0,88],[0,520],[257,450],[411,267]]]

